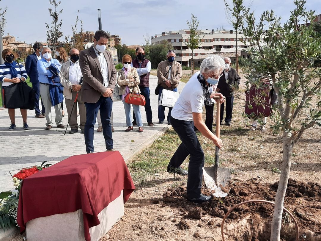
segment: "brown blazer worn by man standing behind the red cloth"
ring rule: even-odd
[[[100,96],[107,88],[114,89],[116,85],[116,74],[114,60],[111,53],[105,50],[101,53],[105,56],[108,64],[108,86],[103,85],[103,76],[98,57],[94,47],[84,49],[79,54],[79,64],[83,76],[81,101],[87,103],[97,103]],[[111,99],[114,97],[111,95]]]

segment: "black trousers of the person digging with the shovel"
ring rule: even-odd
[[[172,167],[179,167],[189,157],[187,176],[187,197],[199,198],[201,195],[204,166],[204,152],[196,137],[193,121],[182,121],[170,117],[170,123],[177,132],[182,143],[169,161]]]

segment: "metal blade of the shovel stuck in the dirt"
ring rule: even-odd
[[[214,181],[215,169],[213,167],[203,167],[203,176],[206,187],[217,198],[226,197],[231,190],[230,168],[221,167],[217,173],[217,185]]]

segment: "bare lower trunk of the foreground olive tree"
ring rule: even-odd
[[[291,133],[284,133],[283,137],[283,158],[278,190],[275,195],[274,213],[271,225],[271,241],[279,241],[281,235],[282,213],[286,188],[291,169],[291,154],[293,140]]]

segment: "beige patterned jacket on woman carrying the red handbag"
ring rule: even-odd
[[[134,78],[135,80],[129,81],[130,79]],[[130,70],[127,73],[127,78],[125,78],[125,72],[123,69],[118,71],[118,77],[117,77],[117,84],[119,87],[119,95],[123,95],[126,92],[126,86],[129,87],[129,90],[131,93],[140,93],[140,89],[136,87],[135,83],[137,84],[137,87],[139,85],[139,76],[137,74],[137,70],[134,67],[130,67]]]

